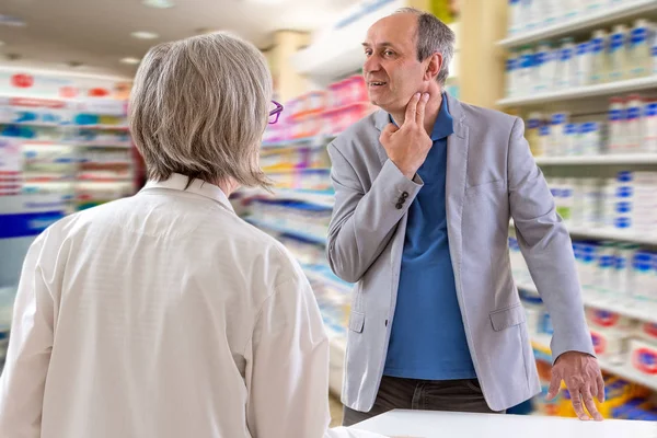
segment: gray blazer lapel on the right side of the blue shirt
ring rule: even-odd
[[[447,94],[447,104],[453,119],[454,134],[447,138],[446,209],[449,250],[457,285],[460,285],[463,256],[462,217],[468,173],[468,135],[461,103]]]

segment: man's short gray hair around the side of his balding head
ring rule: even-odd
[[[417,15],[417,60],[424,61],[435,53],[442,55],[442,66],[436,80],[440,85],[449,77],[449,65],[454,56],[456,35],[451,28],[434,14],[415,8],[397,9],[395,14],[412,13]]]

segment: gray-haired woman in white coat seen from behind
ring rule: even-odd
[[[308,281],[228,201],[267,186],[270,95],[264,57],[227,34],[145,57],[130,128],[149,183],[32,245],[0,437],[350,435],[326,431],[328,344]]]

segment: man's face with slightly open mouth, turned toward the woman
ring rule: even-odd
[[[389,113],[404,111],[424,91],[426,62],[417,60],[417,16],[395,14],[374,23],[362,46],[362,76],[371,103]]]

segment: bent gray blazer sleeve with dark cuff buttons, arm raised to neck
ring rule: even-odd
[[[355,165],[334,143],[328,145],[328,155],[335,189],[326,245],[328,264],[339,278],[356,283],[390,242],[423,182],[419,175],[408,180],[388,160],[366,193]]]

